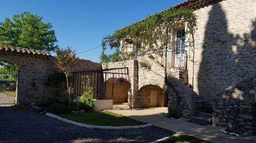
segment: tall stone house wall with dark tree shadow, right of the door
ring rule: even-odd
[[[186,47],[188,82],[204,99],[211,102],[212,96],[256,72],[255,9],[255,0],[226,0],[195,11],[195,64],[193,48]]]

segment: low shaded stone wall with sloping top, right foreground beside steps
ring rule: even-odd
[[[256,76],[230,86],[212,100],[212,124],[238,133],[256,133]]]

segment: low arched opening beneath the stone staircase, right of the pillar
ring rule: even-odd
[[[167,95],[163,89],[156,85],[145,85],[139,90],[140,107],[166,107]]]

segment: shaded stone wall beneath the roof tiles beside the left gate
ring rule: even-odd
[[[42,103],[51,97],[46,82],[53,72],[54,58],[35,58],[24,55],[0,54],[0,58],[18,66],[17,103]]]

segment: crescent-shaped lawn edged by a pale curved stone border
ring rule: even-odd
[[[95,111],[95,112],[84,112],[75,113],[69,115],[58,115],[62,118],[72,120],[75,122],[97,125],[97,126],[136,126],[145,125],[147,123],[142,123],[131,118],[110,112],[110,111]]]

